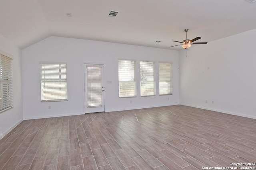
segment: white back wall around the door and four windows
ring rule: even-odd
[[[100,63],[105,66],[106,112],[179,104],[178,54],[178,51],[151,47],[48,37],[22,50],[24,119],[83,114],[83,63]],[[156,61],[156,65],[158,61],[171,61],[173,63],[173,95],[159,96],[156,88],[157,94],[153,97],[140,97],[137,93],[136,98],[119,98],[118,58],[136,59],[138,62],[139,60]],[[67,63],[67,102],[41,102],[40,61]],[[158,78],[157,74],[156,78]],[[108,80],[112,80],[112,84],[107,84]],[[137,83],[139,86],[139,82]],[[48,109],[48,106],[52,109]]]

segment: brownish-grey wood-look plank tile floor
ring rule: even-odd
[[[25,120],[0,140],[2,170],[194,170],[247,162],[256,162],[256,119],[180,105]]]

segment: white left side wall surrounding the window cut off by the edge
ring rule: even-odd
[[[14,107],[0,113],[0,139],[10,132],[22,120],[22,74],[21,50],[0,35],[0,53],[11,55]]]

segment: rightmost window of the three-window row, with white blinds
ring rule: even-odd
[[[159,63],[159,94],[172,94],[172,63]]]

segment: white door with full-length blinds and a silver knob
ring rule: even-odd
[[[85,113],[103,112],[104,65],[84,64]]]

